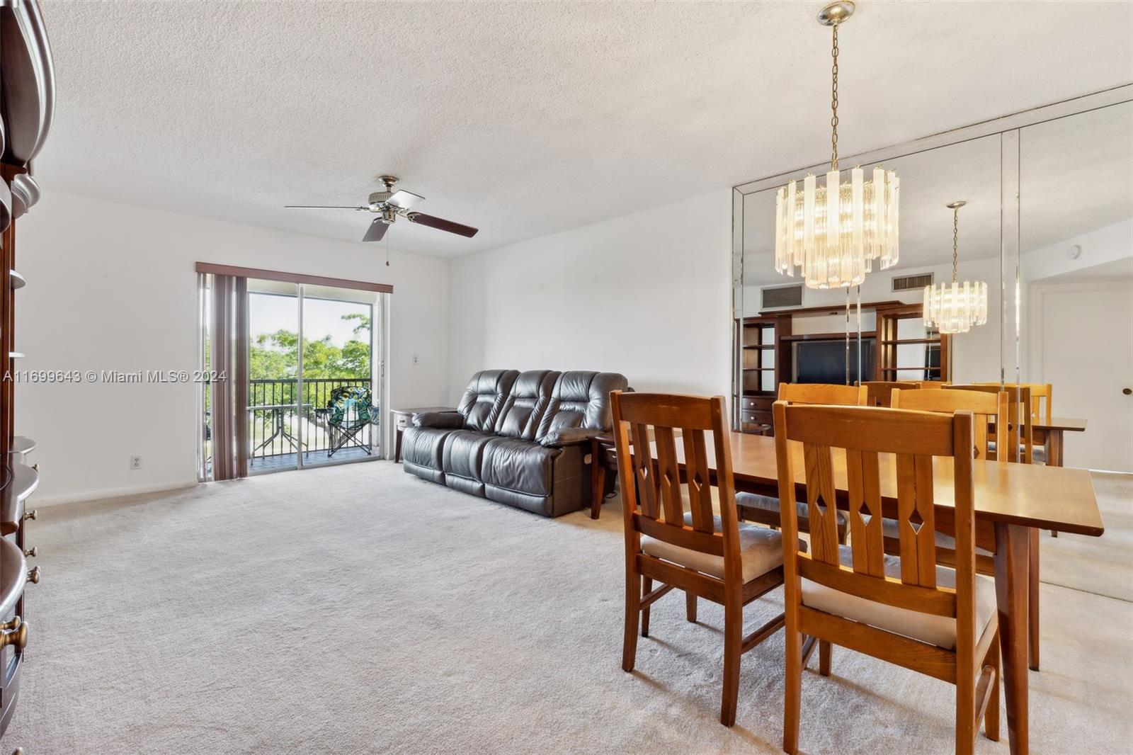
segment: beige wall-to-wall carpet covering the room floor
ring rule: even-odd
[[[44,579],[5,748],[780,752],[782,634],[744,656],[731,730],[715,606],[689,625],[663,599],[621,671],[616,502],[544,519],[380,461],[42,509],[32,532]],[[1133,604],[1042,600],[1032,752],[1128,752]],[[749,628],[780,610],[753,604]],[[802,749],[952,752],[953,704],[949,685],[836,650],[833,677],[806,676]]]

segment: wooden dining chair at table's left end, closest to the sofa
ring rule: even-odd
[[[633,670],[638,630],[649,636],[649,606],[658,597],[674,587],[684,591],[689,621],[696,621],[698,597],[721,603],[724,690],[719,721],[730,727],[735,723],[740,656],[783,627],[781,613],[743,635],[743,606],[783,584],[782,535],[739,521],[723,396],[613,391],[611,405],[625,518],[622,669]],[[653,444],[647,440],[650,430]],[[683,469],[674,440],[678,430]],[[709,449],[714,465],[708,461]]]

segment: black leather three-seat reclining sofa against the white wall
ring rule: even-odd
[[[457,413],[414,416],[406,472],[547,517],[590,504],[590,436],[610,430],[612,372],[485,370]]]

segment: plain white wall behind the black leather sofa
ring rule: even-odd
[[[731,391],[732,193],[452,261],[450,399],[477,370],[600,370]]]

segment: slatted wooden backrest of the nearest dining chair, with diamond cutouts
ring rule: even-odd
[[[972,498],[972,415],[875,407],[791,406],[776,401],[775,450],[783,523],[784,572],[867,600],[922,613],[956,618],[957,637],[974,636],[976,549]],[[795,469],[789,443],[802,443],[810,519],[810,552],[796,545]],[[835,533],[835,473],[832,449],[845,450],[845,481],[852,534],[852,567],[842,566]],[[889,456],[894,455],[894,456]],[[932,459],[953,458],[956,586],[936,580],[936,516]],[[838,460],[838,465],[842,460]],[[881,528],[883,475],[896,478],[895,518],[901,533],[901,577],[885,574]],[[880,630],[878,630],[880,631]]]

